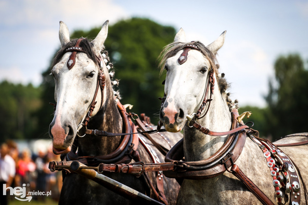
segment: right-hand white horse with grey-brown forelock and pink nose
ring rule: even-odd
[[[205,135],[195,127],[189,127],[186,124],[186,117],[193,117],[191,115],[197,113],[203,99],[212,98],[207,114],[203,118],[197,119],[196,122],[211,131],[225,132],[230,130],[230,111],[232,110],[230,106],[234,108],[232,107],[234,104],[232,105],[227,96],[227,83],[223,78],[218,77],[219,67],[216,64],[215,57],[217,51],[224,44],[225,33],[223,32],[217,40],[208,46],[204,46],[200,42],[186,42],[185,32],[180,29],[174,38],[174,42],[167,45],[161,53],[160,66],[162,71],[163,69],[167,71],[167,75],[164,89],[166,98],[160,111],[160,120],[164,123],[167,131],[179,132],[182,129],[184,130],[185,161],[208,159],[227,140],[227,135]],[[185,51],[187,47],[191,50]],[[211,96],[211,91],[209,91],[205,96],[209,73],[212,69],[214,71],[213,94]],[[206,106],[199,116],[205,114]],[[276,144],[299,142],[305,139],[306,137],[301,136],[287,137],[277,141]],[[307,145],[280,148],[298,166],[304,182],[308,181],[307,148]],[[246,139],[241,155],[235,163],[272,202],[278,203],[278,198],[274,194],[273,177],[270,175],[270,169],[263,152],[256,143],[249,138]],[[300,191],[292,192],[293,195],[302,196],[302,204],[305,202],[302,181]],[[283,194],[282,199],[287,200],[284,196]],[[246,188],[244,183],[233,174],[225,171],[223,174],[210,179],[184,179],[177,203],[259,204],[260,201]],[[290,202],[290,204],[292,203]]]

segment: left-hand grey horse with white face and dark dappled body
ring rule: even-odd
[[[93,41],[89,42],[84,38],[70,40],[67,26],[60,22],[59,38],[62,48],[56,55],[51,70],[51,74],[55,78],[56,109],[54,119],[50,124],[49,134],[53,140],[54,153],[63,154],[67,157],[66,160],[72,157],[74,159],[83,159],[84,156],[87,156],[88,159],[95,158],[97,165],[103,161],[104,156],[119,151],[122,141],[126,139],[123,136],[85,135],[84,137],[77,137],[78,130],[84,129],[81,125],[85,123],[87,123],[88,129],[103,130],[111,133],[133,131],[127,127],[128,117],[125,109],[117,102],[114,96],[112,82],[108,74],[110,66],[106,66],[106,62],[101,57],[107,30],[108,21],[103,24],[102,29]],[[102,74],[104,74],[104,77],[102,77]],[[105,78],[104,83],[101,83],[103,82],[102,78]],[[96,97],[94,98],[93,96]],[[128,129],[128,132],[125,132],[125,129]],[[153,138],[157,142],[165,143],[163,146],[169,146],[160,136],[156,135]],[[170,144],[174,144],[181,138],[181,135],[168,135],[166,138],[170,140]],[[153,163],[145,147],[140,143],[142,140],[147,143],[148,149],[156,152],[158,155],[156,160],[163,162],[164,156],[152,146],[148,139],[144,138],[139,139],[138,148],[136,147],[136,144],[138,144],[137,139],[135,145],[130,147],[130,150],[128,150],[129,148],[124,151],[120,150],[119,153],[126,156],[124,161],[121,158],[122,161],[117,159],[112,162],[112,160],[106,159],[107,162],[129,163],[132,159],[129,158],[127,161],[129,156],[125,152],[132,151],[136,154],[136,151],[138,151],[141,161]],[[78,150],[76,150],[77,147]],[[78,151],[77,154],[76,151]],[[136,157],[136,155],[134,156]],[[85,159],[85,161],[90,162],[88,159]],[[144,175],[139,178],[123,173],[106,173],[105,175],[141,193],[150,195],[152,198],[154,197]],[[157,172],[148,174],[154,188],[156,188],[157,175]],[[161,176],[160,180],[165,182],[164,193],[168,203],[175,204],[179,185],[174,179],[165,179]],[[78,174],[67,174],[65,176],[59,200],[59,204],[131,203],[128,199]]]

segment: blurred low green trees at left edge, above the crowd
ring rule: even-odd
[[[30,139],[38,125],[35,112],[41,107],[41,89],[7,81],[0,83],[1,138]]]

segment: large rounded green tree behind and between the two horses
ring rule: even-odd
[[[100,27],[89,31],[76,30],[71,34],[71,39],[82,36],[94,39],[99,31]],[[158,97],[164,95],[156,58],[174,36],[175,29],[171,26],[162,26],[149,19],[131,18],[110,25],[104,43],[115,67],[115,78],[120,80],[121,103],[132,104],[132,112],[146,113],[152,122],[158,120],[158,117],[153,117],[160,108]],[[48,103],[54,102],[55,85],[49,73],[50,68],[43,73],[39,135],[48,131],[53,117],[53,108]]]

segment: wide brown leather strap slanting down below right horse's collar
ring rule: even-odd
[[[246,185],[249,191],[251,191],[261,203],[265,205],[274,205],[274,203],[241,171],[236,164],[231,166],[231,171],[234,176]]]

